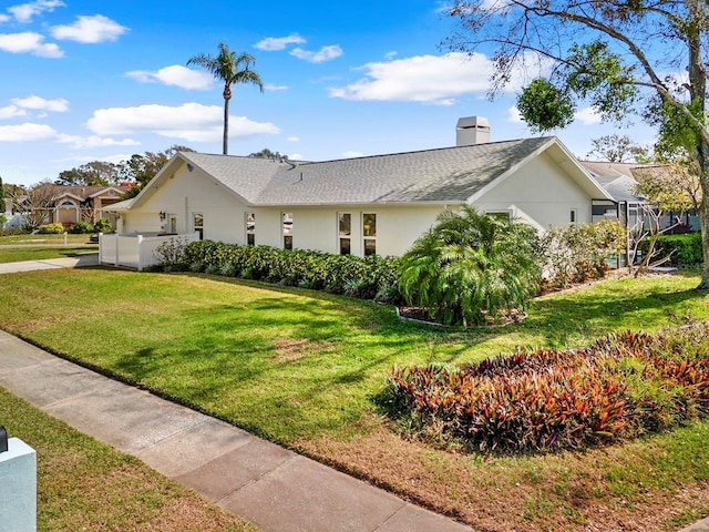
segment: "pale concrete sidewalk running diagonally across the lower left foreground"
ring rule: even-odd
[[[471,530],[1,330],[0,386],[265,532]]]

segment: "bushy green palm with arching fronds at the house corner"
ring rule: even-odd
[[[409,305],[446,325],[482,325],[524,310],[540,288],[536,231],[464,206],[442,212],[402,257],[399,287]]]

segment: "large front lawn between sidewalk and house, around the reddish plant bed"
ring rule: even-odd
[[[621,446],[495,457],[398,436],[372,398],[393,365],[575,347],[709,319],[691,274],[533,301],[517,325],[400,323],[370,301],[207,275],[2,276],[0,327],[366,478],[479,530],[672,530],[709,513],[709,422]]]

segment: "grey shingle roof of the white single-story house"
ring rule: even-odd
[[[318,163],[184,153],[254,205],[464,202],[553,137]]]

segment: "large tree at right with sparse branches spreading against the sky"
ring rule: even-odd
[[[605,121],[627,123],[630,113],[639,113],[658,129],[657,152],[687,155],[702,192],[699,287],[708,289],[707,2],[456,0],[450,14],[461,23],[449,40],[453,49],[472,53],[494,47],[493,95],[520,69],[536,65],[552,98],[571,102],[571,109],[590,105]],[[535,83],[528,86],[541,93]],[[523,116],[541,131],[565,125],[567,113],[555,122],[540,112],[545,108],[548,100],[538,99]]]

